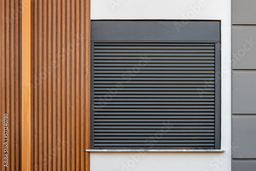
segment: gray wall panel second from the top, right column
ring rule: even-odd
[[[233,26],[232,58],[233,69],[256,69],[256,26]]]

